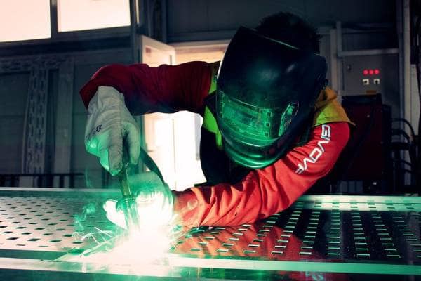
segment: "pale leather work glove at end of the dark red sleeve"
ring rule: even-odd
[[[100,157],[101,165],[112,176],[119,174],[123,145],[131,164],[137,164],[140,153],[140,129],[128,111],[122,93],[110,86],[99,86],[88,105],[85,147]]]

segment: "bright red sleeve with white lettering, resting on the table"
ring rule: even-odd
[[[241,225],[276,214],[328,174],[348,139],[346,122],[316,126],[306,145],[264,169],[250,171],[235,185],[175,192],[175,211],[189,227]]]

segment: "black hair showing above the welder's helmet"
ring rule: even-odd
[[[276,13],[260,21],[255,30],[266,37],[283,41],[303,50],[320,53],[321,35],[302,18],[292,13]]]

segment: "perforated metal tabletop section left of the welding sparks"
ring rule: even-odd
[[[60,193],[56,192],[56,195]],[[95,244],[84,233],[114,230],[105,217],[100,198],[0,196],[0,249],[31,251],[69,251]],[[86,205],[95,213],[86,214]],[[81,225],[75,226],[79,216]],[[77,221],[77,220],[76,220]],[[81,230],[81,235],[76,230]],[[96,227],[96,228],[95,228]]]

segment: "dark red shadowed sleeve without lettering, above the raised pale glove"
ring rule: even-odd
[[[86,107],[98,86],[113,86],[123,93],[134,115],[189,110],[201,113],[210,89],[211,70],[205,62],[149,67],[145,64],[107,65],[80,91]]]

